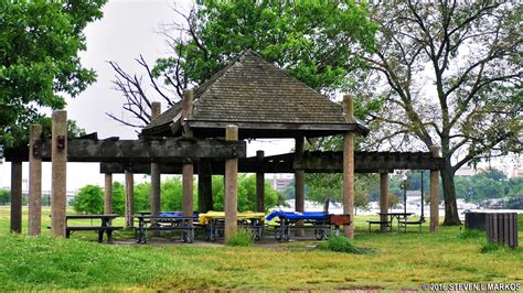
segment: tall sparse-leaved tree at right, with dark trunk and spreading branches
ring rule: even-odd
[[[460,224],[460,166],[521,152],[521,15],[520,3],[499,1],[373,7],[376,52],[362,55],[386,104],[371,115],[367,146],[441,146],[444,225]]]

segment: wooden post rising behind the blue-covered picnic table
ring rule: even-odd
[[[305,211],[305,170],[302,164],[303,155],[303,137],[297,137],[295,146],[295,210]],[[297,226],[302,226],[303,221],[297,223]],[[296,230],[296,236],[303,237],[305,230]]]

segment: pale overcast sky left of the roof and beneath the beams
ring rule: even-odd
[[[87,133],[98,132],[98,138],[120,137],[136,139],[136,132],[118,124],[108,118],[109,111],[118,117],[125,115],[121,110],[124,97],[111,89],[114,72],[107,61],[117,62],[125,70],[138,72],[139,66],[135,58],[143,55],[149,64],[157,58],[167,56],[168,47],[164,39],[156,33],[160,23],[179,21],[171,7],[170,0],[111,0],[104,7],[104,18],[90,23],[85,34],[87,51],[82,52],[82,63],[85,67],[94,68],[98,75],[97,82],[75,99],[67,99],[68,119],[76,120]],[[177,0],[179,9],[189,7],[191,1]],[[143,79],[146,80],[146,79]],[[162,107],[162,111],[166,108]],[[288,152],[292,141],[263,141],[247,145],[248,155],[255,155],[256,150],[265,150],[266,155]],[[0,187],[10,186],[11,164],[0,164]],[[137,181],[143,176],[136,175]],[[29,166],[23,164],[23,188],[28,186]],[[124,181],[122,175],[114,176],[116,181]],[[67,191],[77,189],[85,184],[104,184],[104,176],[99,174],[99,164],[68,163]],[[51,163],[43,163],[42,188],[51,189]]]

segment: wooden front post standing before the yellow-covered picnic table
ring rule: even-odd
[[[227,126],[225,140],[238,140],[238,127]],[[225,242],[236,235],[238,210],[238,159],[225,161]]]

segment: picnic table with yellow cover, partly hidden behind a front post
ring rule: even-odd
[[[265,219],[264,213],[243,211],[238,213],[236,218],[238,227],[252,230],[254,240],[262,239]],[[225,213],[210,210],[205,214],[200,214],[199,223],[205,229],[206,240],[215,241],[224,234]]]

